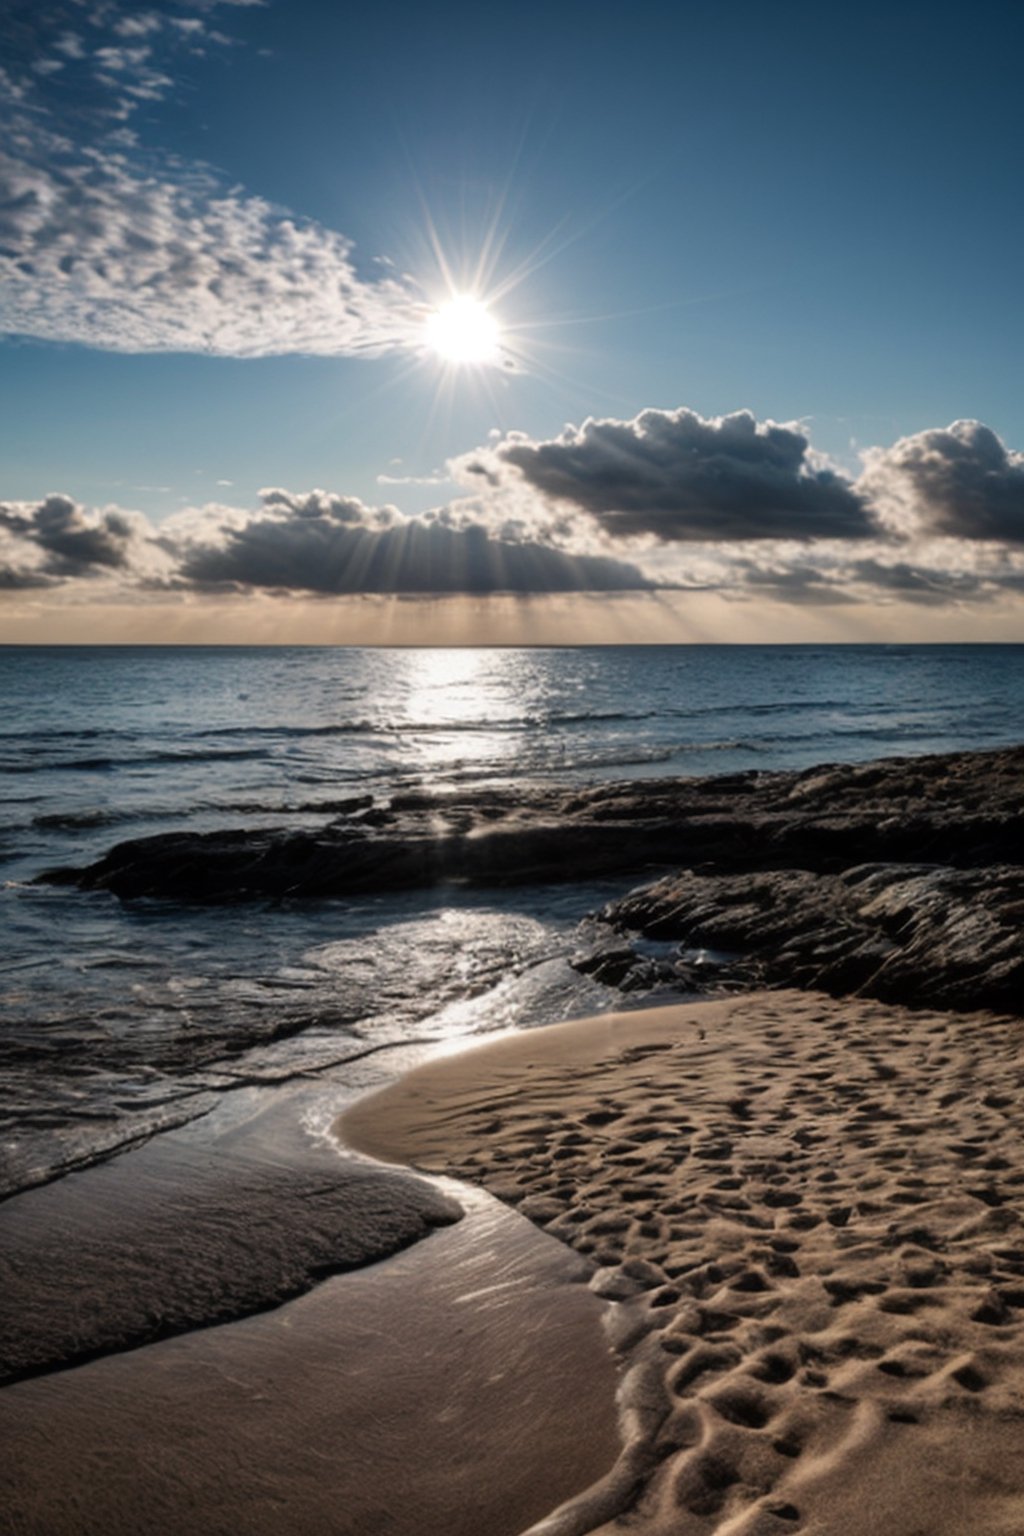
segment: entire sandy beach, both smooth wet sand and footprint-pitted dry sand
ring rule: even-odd
[[[795,991],[605,1014],[439,1052],[333,1152],[270,1095],[29,1192],[5,1528],[1019,1536],[1022,1035]],[[200,1326],[203,1241],[244,1275],[359,1221],[419,1241]]]

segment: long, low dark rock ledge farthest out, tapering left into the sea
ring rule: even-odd
[[[41,879],[223,902],[344,895],[438,880],[576,880],[672,866],[812,869],[1024,860],[1024,748],[808,773],[565,790],[410,793],[318,831],[163,833]]]

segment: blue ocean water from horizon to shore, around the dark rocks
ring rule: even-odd
[[[226,1092],[620,1003],[593,882],[195,908],[35,885],[353,794],[804,768],[1024,739],[1024,645],[0,648],[3,1189]]]

